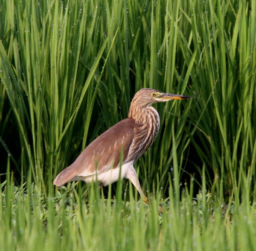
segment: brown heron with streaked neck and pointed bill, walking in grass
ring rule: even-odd
[[[73,164],[58,174],[53,184],[61,188],[70,181],[83,180],[86,183],[98,181],[99,185],[107,186],[119,177],[126,178],[131,180],[148,204],[134,162],[153,144],[159,131],[160,117],[151,104],[191,98],[151,88],[140,89],[131,100],[128,118],[119,121],[90,143]]]

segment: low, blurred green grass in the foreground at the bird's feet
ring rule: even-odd
[[[171,182],[170,182],[171,184]],[[256,202],[243,191],[242,203],[222,203],[203,184],[177,198],[159,193],[150,204],[134,199],[133,188],[102,197],[97,185],[74,185],[46,196],[30,179],[1,185],[0,241],[3,250],[254,250]],[[109,194],[110,195],[110,194]],[[129,200],[122,200],[128,195]],[[163,207],[163,213],[158,205]]]

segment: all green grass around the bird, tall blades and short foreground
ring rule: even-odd
[[[255,1],[2,0],[0,59],[3,250],[254,249]],[[155,105],[150,205],[127,181],[57,191],[143,87],[193,97]]]

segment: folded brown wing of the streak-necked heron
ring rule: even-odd
[[[103,173],[116,168],[120,163],[123,149],[123,163],[127,162],[129,148],[138,127],[133,119],[125,119],[113,125],[94,140],[79,155],[76,161],[61,171],[53,184],[58,187],[70,180],[80,180],[79,176]]]

